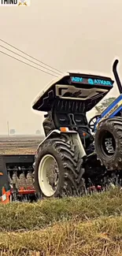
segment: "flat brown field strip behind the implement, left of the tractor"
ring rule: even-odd
[[[39,135],[0,136],[0,154],[35,154],[42,139]]]

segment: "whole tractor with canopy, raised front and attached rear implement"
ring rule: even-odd
[[[113,74],[120,96],[89,122],[87,112],[113,88],[109,77],[66,72],[35,99],[32,108],[46,112],[46,137],[35,155],[1,156],[2,202],[5,194],[11,201],[33,201],[105,191],[110,184],[121,187],[122,86],[117,63]]]

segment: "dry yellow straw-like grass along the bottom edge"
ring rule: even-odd
[[[119,256],[122,217],[102,217],[84,223],[66,221],[39,231],[3,232],[0,241],[5,255]]]

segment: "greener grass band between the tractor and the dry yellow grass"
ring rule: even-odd
[[[38,203],[0,205],[0,231],[46,228],[57,221],[87,221],[98,217],[120,216],[122,191],[113,190],[83,198],[43,200]]]

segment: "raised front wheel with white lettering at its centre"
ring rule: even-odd
[[[98,159],[107,169],[122,169],[122,118],[102,121],[94,136]]]

